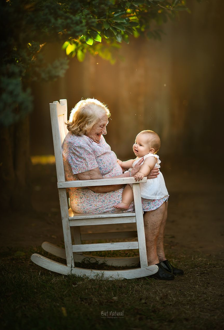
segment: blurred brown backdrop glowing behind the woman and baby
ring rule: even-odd
[[[32,83],[31,155],[53,154],[50,102],[66,98],[69,114],[81,98],[94,97],[111,111],[106,141],[121,159],[133,157],[132,144],[143,129],[160,135],[160,156],[220,156],[224,4],[189,0],[188,7],[191,14],[181,12],[179,21],[166,23],[162,41],[122,43],[122,59],[113,65],[87,54],[81,63],[70,59],[64,78]],[[66,56],[56,44],[43,51],[49,61]]]

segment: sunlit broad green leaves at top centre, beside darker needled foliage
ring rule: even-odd
[[[87,32],[78,39],[69,38],[63,49],[71,57],[77,55],[79,61],[89,51],[113,64],[119,43],[129,44],[130,35],[138,38],[141,34],[146,39],[161,40],[161,25],[176,19],[183,10],[190,12],[185,0],[92,1],[85,11],[86,17],[92,18]]]

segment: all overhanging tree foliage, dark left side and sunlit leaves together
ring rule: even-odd
[[[83,61],[86,51],[111,63],[129,36],[161,38],[161,25],[186,10],[186,0],[3,0],[0,2],[0,123],[10,125],[32,111],[32,81],[64,75],[68,58],[45,59],[47,43]]]

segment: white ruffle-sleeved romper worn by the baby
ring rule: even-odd
[[[161,160],[159,159],[159,156],[153,153],[148,153],[144,157],[141,158],[147,158],[147,157],[155,157],[157,162],[155,164],[155,167],[160,168],[160,163]],[[141,158],[138,158],[137,160],[134,161],[133,167],[139,162]],[[142,162],[142,164],[144,161]],[[141,165],[142,165],[141,164]],[[140,184],[140,189],[141,189],[141,197],[145,199],[162,199],[164,197],[169,197],[166,184],[163,178],[162,173],[159,171],[159,175],[155,179],[148,179],[147,182],[141,183]]]

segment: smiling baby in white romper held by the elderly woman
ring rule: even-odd
[[[159,148],[160,138],[158,134],[150,130],[142,131],[136,136],[136,140],[133,145],[133,151],[137,158],[130,159],[125,162],[118,159],[118,164],[122,167],[122,169],[129,169],[135,167],[139,160],[144,158],[140,171],[135,175],[135,180],[140,181],[144,177],[147,177],[153,167],[160,168],[159,164],[161,161],[159,160],[159,156],[156,155]],[[161,172],[157,178],[141,183],[140,189],[141,197],[145,199],[162,199],[164,197],[169,197]],[[115,207],[117,209],[127,210],[132,201],[132,188],[131,185],[127,184],[122,193],[122,202],[117,204]]]

